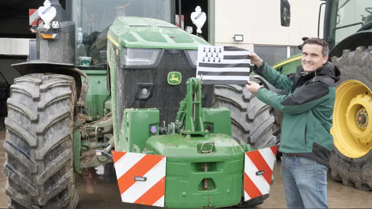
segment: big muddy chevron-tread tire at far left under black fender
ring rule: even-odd
[[[76,104],[72,77],[14,79],[5,118],[4,174],[9,208],[77,207],[72,144]]]

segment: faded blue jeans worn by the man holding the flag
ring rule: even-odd
[[[328,168],[314,160],[283,153],[280,176],[288,209],[329,209]]]

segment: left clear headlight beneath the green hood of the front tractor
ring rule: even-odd
[[[122,66],[153,66],[159,59],[160,49],[123,48],[121,52]]]

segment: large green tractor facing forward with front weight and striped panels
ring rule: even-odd
[[[210,44],[175,26],[174,0],[63,5],[44,2],[29,60],[12,65],[22,76],[4,120],[9,208],[76,208],[77,176],[106,163],[126,203],[251,207],[268,198],[274,118],[244,86],[194,78],[198,46]],[[158,157],[165,163],[151,164]],[[138,196],[151,185],[163,191],[152,203]]]

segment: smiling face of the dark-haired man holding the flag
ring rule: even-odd
[[[305,72],[312,72],[320,68],[328,60],[323,56],[323,47],[318,44],[305,44],[302,47],[302,67]]]

